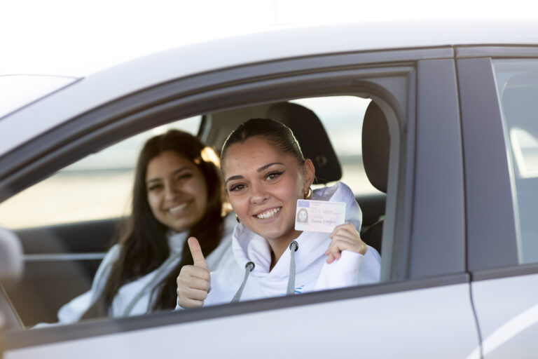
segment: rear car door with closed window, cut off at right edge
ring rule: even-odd
[[[538,48],[458,49],[468,266],[484,358],[538,344]]]

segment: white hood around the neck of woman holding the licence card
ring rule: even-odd
[[[332,187],[324,187],[315,189],[312,194],[312,200],[315,201],[331,201],[344,202],[345,222],[354,224],[357,229],[360,229],[362,212],[355,201],[353,192],[346,184],[338,182]],[[324,262],[326,259],[325,251],[331,243],[329,233],[322,232],[303,232],[295,241],[298,243],[298,250],[295,252],[296,273],[301,276],[307,276],[303,280],[317,278],[319,275],[319,262]],[[237,264],[244,268],[247,262],[254,262],[254,271],[251,276],[267,279],[267,282],[278,285],[286,285],[280,283],[287,280],[289,277],[290,268],[290,251],[286,250],[279,261],[270,271],[271,249],[268,241],[256,233],[247,229],[243,224],[237,224],[233,233],[232,240],[233,255]],[[310,267],[315,267],[316,270],[310,270]]]

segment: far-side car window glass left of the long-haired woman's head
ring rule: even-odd
[[[169,128],[196,135],[200,121],[195,116],[159,126],[86,156],[1,203],[0,225],[22,229],[123,217],[142,144]]]

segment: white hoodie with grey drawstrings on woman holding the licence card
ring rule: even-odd
[[[313,192],[313,200],[345,202],[345,222],[352,223],[359,231],[362,212],[347,185],[338,182]],[[344,250],[340,259],[327,264],[325,251],[329,248],[329,233],[304,231],[295,241],[295,293],[325,290],[350,285],[375,283],[380,278],[380,255],[368,246],[365,255]],[[211,289],[204,305],[229,303],[245,276],[245,264],[254,262],[240,300],[275,297],[287,293],[290,276],[290,250],[286,250],[270,271],[271,250],[261,236],[243,224],[237,224],[233,232],[234,259],[223,264],[211,274]]]

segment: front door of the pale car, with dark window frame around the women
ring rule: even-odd
[[[38,137],[69,140],[5,175],[21,188],[137,130],[214,109],[314,95],[370,97],[390,136],[381,282],[134,318],[11,332],[5,357],[289,355],[459,358],[479,347],[464,233],[462,140],[453,48],[317,55],[174,79]],[[81,83],[83,86],[83,83]],[[60,94],[57,94],[60,95]],[[97,114],[99,116],[97,116]],[[94,128],[88,130],[88,121]],[[97,126],[99,125],[99,126]],[[219,122],[211,123],[219,128]],[[202,129],[202,138],[204,130]],[[360,134],[357,133],[357,139]],[[38,147],[39,148],[39,147]],[[4,161],[32,161],[24,149]]]

